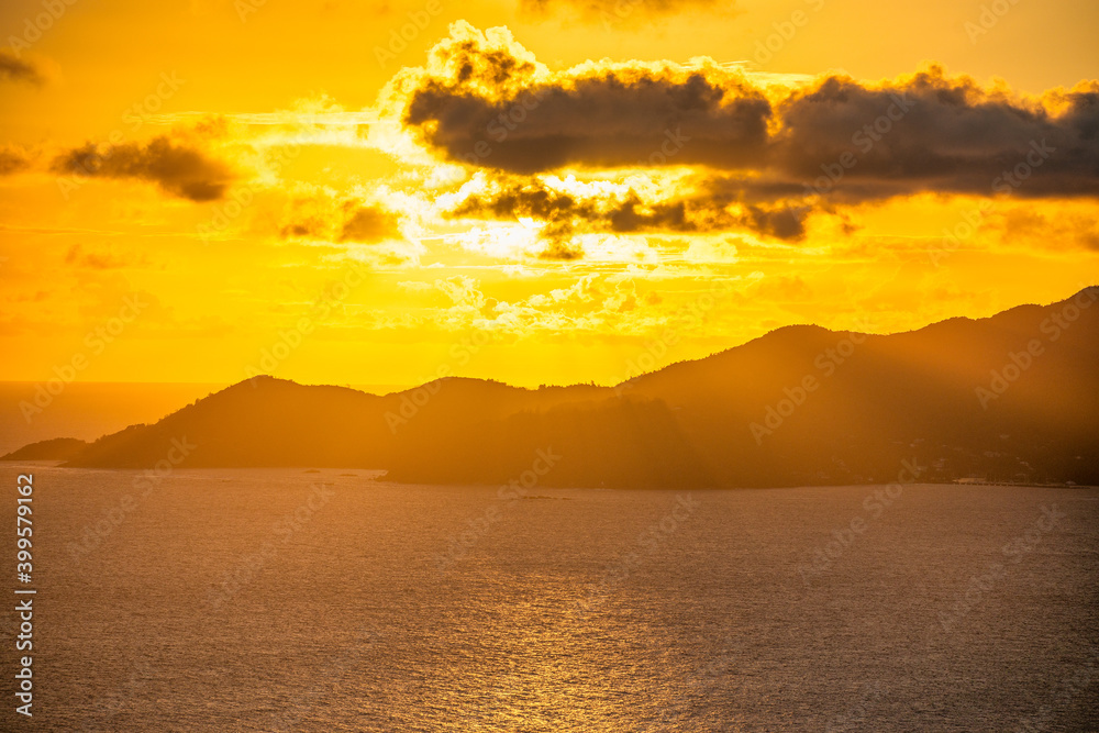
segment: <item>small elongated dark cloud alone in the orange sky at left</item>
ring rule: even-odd
[[[223,162],[187,143],[166,135],[146,145],[123,143],[99,146],[88,143],[58,156],[53,170],[92,178],[135,178],[191,201],[213,201],[225,195],[235,178]]]

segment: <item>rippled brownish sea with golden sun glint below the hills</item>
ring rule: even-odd
[[[34,475],[3,730],[1099,730],[1095,489]]]

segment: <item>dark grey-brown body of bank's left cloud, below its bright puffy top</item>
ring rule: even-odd
[[[564,166],[764,162],[770,103],[755,89],[609,71],[568,87],[482,97],[440,84],[412,92],[406,124],[452,160],[535,173]]]

